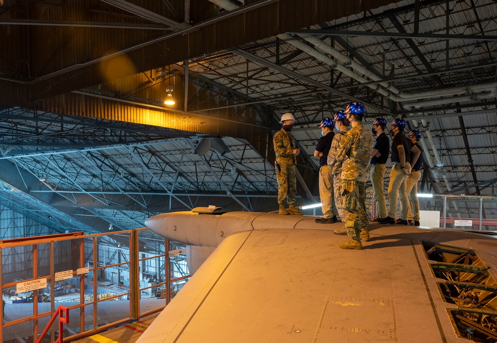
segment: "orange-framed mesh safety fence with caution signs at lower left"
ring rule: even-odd
[[[0,241],[0,342],[36,342],[59,305],[64,342],[159,312],[189,278],[178,248],[148,229]]]

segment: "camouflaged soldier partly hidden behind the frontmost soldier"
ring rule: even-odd
[[[344,219],[345,214],[342,206],[343,197],[341,196],[341,191],[340,191],[341,186],[343,184],[341,179],[342,163],[336,161],[336,151],[340,146],[340,140],[345,135],[345,132],[347,132],[348,125],[344,124],[344,122],[347,121],[345,117],[346,117],[345,111],[342,109],[336,112],[334,116],[335,127],[338,129],[339,132],[335,134],[333,140],[331,141],[331,148],[330,152],[328,153],[328,160],[327,160],[327,164],[331,168],[331,173],[333,174],[333,194],[335,198],[335,205],[343,224],[345,224],[345,219]],[[346,235],[347,229],[344,226],[341,229],[333,230],[333,233],[335,233],[336,235]]]

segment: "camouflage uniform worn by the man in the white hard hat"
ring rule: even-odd
[[[288,203],[295,203],[297,194],[297,180],[295,165],[297,161],[293,150],[295,138],[290,132],[281,129],[273,137],[274,152],[276,153],[276,164],[280,166],[280,171],[275,166],[276,177],[278,179],[278,203],[283,204],[288,197]]]

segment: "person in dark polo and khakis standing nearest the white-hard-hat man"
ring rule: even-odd
[[[334,137],[333,127],[335,122],[329,118],[323,118],[321,121],[321,137],[314,150],[314,157],[319,158],[319,197],[321,200],[321,210],[323,218],[317,218],[315,221],[318,224],[336,223],[336,215],[338,214],[335,206],[335,197],[333,194],[333,174],[331,168],[327,165],[328,153],[331,148],[331,141]]]

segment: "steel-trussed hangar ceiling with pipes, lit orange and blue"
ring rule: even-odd
[[[316,126],[358,99],[368,122],[403,117],[423,133],[424,191],[495,195],[496,7],[3,0],[0,179],[26,203],[33,197],[97,231],[199,205],[270,211],[271,137],[290,111],[303,152],[298,202],[311,202]],[[170,86],[176,104],[167,107]],[[219,137],[229,152],[195,154],[202,139]],[[454,216],[478,211],[450,206]],[[496,211],[485,204],[485,218]]]

